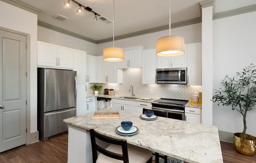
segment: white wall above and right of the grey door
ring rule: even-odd
[[[37,131],[37,14],[0,1],[0,26],[30,34],[30,132]]]

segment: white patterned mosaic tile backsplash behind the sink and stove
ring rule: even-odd
[[[201,92],[200,85],[179,85],[179,84],[142,84],[142,69],[123,69],[123,84],[115,83],[88,83],[87,94],[93,94],[90,89],[92,85],[102,85],[99,93],[103,94],[106,88],[115,89],[115,95],[132,96],[129,92],[130,85],[133,86],[133,94],[143,98],[173,98],[180,100],[191,100],[194,92]],[[119,89],[119,91],[117,91]],[[153,93],[151,93],[153,92]]]

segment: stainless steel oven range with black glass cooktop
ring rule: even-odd
[[[185,120],[185,104],[188,100],[161,98],[152,102],[152,110],[168,112],[167,117]]]

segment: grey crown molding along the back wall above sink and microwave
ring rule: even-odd
[[[192,25],[192,24],[197,24],[197,23],[201,23],[201,22],[202,22],[201,17],[194,18],[194,19],[191,19],[191,20],[186,20],[186,21],[183,21],[183,22],[178,22],[178,23],[171,24],[171,29],[177,28],[177,27],[183,27],[183,26],[187,26],[187,25]],[[160,26],[160,27],[146,29],[146,30],[143,30],[143,31],[138,31],[138,32],[134,32],[134,33],[115,36],[115,40],[122,40],[124,38],[130,38],[130,37],[134,37],[134,36],[140,36],[140,35],[143,35],[143,34],[155,33],[155,32],[164,31],[164,30],[168,30],[168,29],[169,29],[169,25],[163,25],[163,26]],[[105,43],[105,42],[111,42],[111,41],[113,41],[113,37],[112,38],[106,38],[106,39],[103,39],[103,40],[98,40],[97,44]]]

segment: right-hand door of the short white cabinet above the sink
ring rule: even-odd
[[[130,50],[129,67],[130,68],[142,67],[142,49]]]

